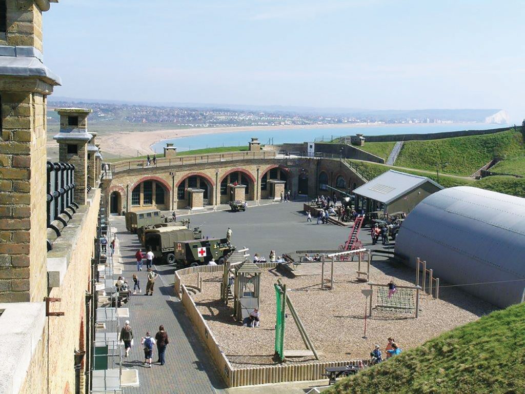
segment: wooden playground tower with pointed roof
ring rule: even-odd
[[[259,309],[261,272],[262,270],[251,261],[235,266],[233,307],[240,322],[248,317],[254,308]]]

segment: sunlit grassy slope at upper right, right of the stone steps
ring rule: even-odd
[[[493,158],[508,159],[524,155],[521,132],[508,130],[482,136],[407,141],[395,164],[430,171],[441,165],[443,172],[468,176]]]

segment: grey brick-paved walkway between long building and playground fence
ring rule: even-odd
[[[132,285],[132,275],[137,273],[134,254],[140,247],[137,235],[125,230],[124,218],[112,217],[112,227],[117,228],[119,252],[124,265],[122,275]],[[134,346],[130,357],[124,359],[122,367],[139,370],[140,387],[125,388],[125,393],[156,394],[184,393],[207,394],[224,393],[224,382],[220,378],[206,348],[201,344],[193,325],[184,314],[182,303],[173,292],[174,268],[158,265],[160,274],[155,282],[153,296],[144,296],[146,288],[146,268],[139,272],[142,293],[131,297],[125,305],[130,310],[130,323],[133,329]],[[140,345],[146,331],[154,336],[159,325],[164,325],[170,338],[166,349],[166,365],[156,364],[158,354],[153,351],[153,366],[142,365],[144,352]]]

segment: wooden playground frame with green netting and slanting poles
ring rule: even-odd
[[[275,352],[276,355],[280,358],[281,361],[284,361],[285,358],[293,357],[308,357],[313,356],[316,360],[319,360],[319,354],[316,348],[313,347],[312,341],[308,336],[308,333],[304,329],[304,326],[301,322],[299,315],[296,312],[295,307],[291,302],[290,297],[286,292],[286,284],[281,282],[281,279],[278,279],[277,283],[274,285],[275,295],[276,295],[276,324],[275,324]],[[285,350],[285,322],[286,322],[286,306],[290,314],[293,317],[301,338],[306,346],[307,350]]]

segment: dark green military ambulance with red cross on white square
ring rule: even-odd
[[[174,246],[175,261],[185,267],[206,265],[212,258],[217,264],[224,264],[226,257],[235,251],[226,238],[179,241]]]

